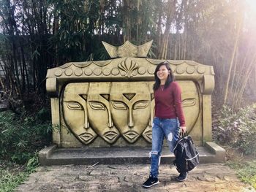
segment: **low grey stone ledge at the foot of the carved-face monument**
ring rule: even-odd
[[[200,164],[225,163],[225,150],[214,142],[197,147]],[[39,152],[41,165],[66,164],[150,164],[150,147],[58,148],[45,147]],[[162,149],[161,164],[173,164],[174,155]]]

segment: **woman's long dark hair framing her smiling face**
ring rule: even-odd
[[[166,66],[166,69],[170,72],[170,74],[168,74],[167,80],[165,81],[165,88],[167,88],[170,85],[170,82],[175,81],[173,71],[172,71],[172,69],[170,69],[170,65],[167,62],[162,62],[157,65],[157,68],[154,71],[154,80],[155,80],[155,83],[153,86],[154,91],[156,91],[160,87],[161,81],[157,77],[157,72],[158,72],[160,66],[163,66],[163,65]]]

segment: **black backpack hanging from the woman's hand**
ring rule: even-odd
[[[199,164],[199,153],[197,152],[192,137],[187,132],[178,139],[174,147],[175,160],[173,164],[179,173],[189,172]]]

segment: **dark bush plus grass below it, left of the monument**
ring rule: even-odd
[[[0,191],[14,191],[34,172],[38,150],[50,142],[51,130],[45,108],[34,115],[0,112]]]

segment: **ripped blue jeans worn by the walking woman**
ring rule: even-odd
[[[152,126],[152,150],[151,150],[151,170],[150,174],[157,177],[159,172],[159,164],[162,152],[162,144],[164,137],[167,139],[169,150],[173,153],[173,148],[176,145],[179,137],[179,122],[178,118],[162,119],[154,118]]]

